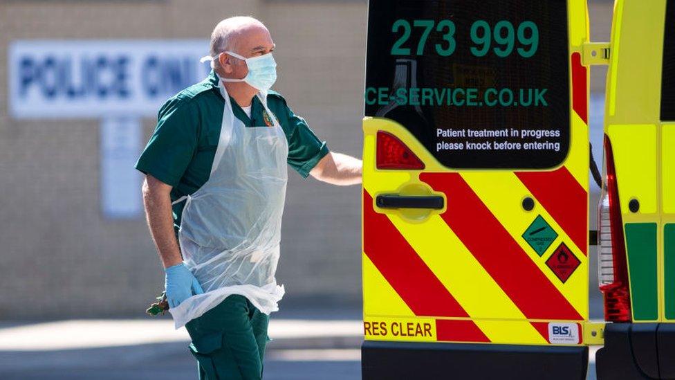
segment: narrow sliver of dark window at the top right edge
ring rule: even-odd
[[[675,121],[675,1],[668,0],[661,69],[661,120]]]

